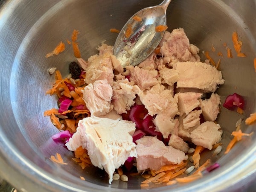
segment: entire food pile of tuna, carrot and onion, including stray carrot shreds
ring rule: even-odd
[[[218,70],[220,59],[216,64],[205,52],[208,59],[201,62],[198,47],[179,28],[166,31],[159,46],[138,66],[122,67],[113,46],[104,43],[97,48],[98,54],[85,61],[78,34],[74,30],[71,41],[67,40],[76,57],[69,65],[70,74],[63,78],[56,68],[49,69],[55,73],[55,83],[47,94],[58,96],[59,108],[44,115],[61,131],[52,139],[74,151],[73,160],[82,169],[104,169],[109,184],[140,174],[145,178],[141,187],[146,188],[191,182],[201,178],[205,169],[219,167],[210,159],[200,162],[200,154],[211,150],[215,156],[222,149],[223,131],[216,122],[221,98],[215,93],[224,84]],[[237,56],[245,57],[240,42],[234,32]],[[46,57],[64,49],[61,42]],[[230,49],[227,56],[231,57]],[[234,93],[223,106],[242,113],[244,99]],[[247,119],[248,124],[253,121],[255,115]],[[240,126],[241,121],[225,153],[242,136],[250,137]],[[59,154],[51,160],[67,164]]]

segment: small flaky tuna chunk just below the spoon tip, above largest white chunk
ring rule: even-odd
[[[133,84],[128,79],[118,80],[113,84],[113,96],[111,103],[118,114],[127,113],[134,104],[136,93]]]

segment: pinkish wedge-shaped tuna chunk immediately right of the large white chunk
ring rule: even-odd
[[[164,145],[157,137],[144,136],[136,143],[138,172],[143,172],[146,169],[157,171],[162,166],[187,160],[183,151]]]

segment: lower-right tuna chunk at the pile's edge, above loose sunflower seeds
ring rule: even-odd
[[[191,139],[195,145],[200,145],[209,150],[221,140],[220,125],[206,121],[191,132]]]

